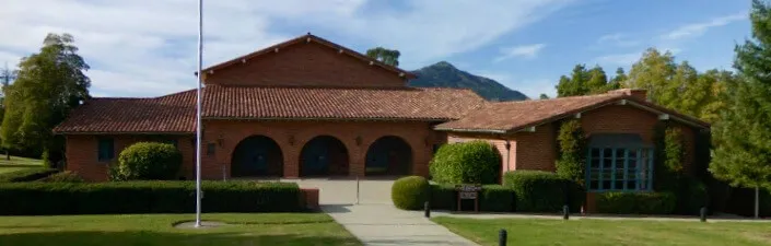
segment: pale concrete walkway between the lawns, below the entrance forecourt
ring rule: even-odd
[[[364,245],[477,245],[423,216],[393,204],[327,204],[322,210]]]

